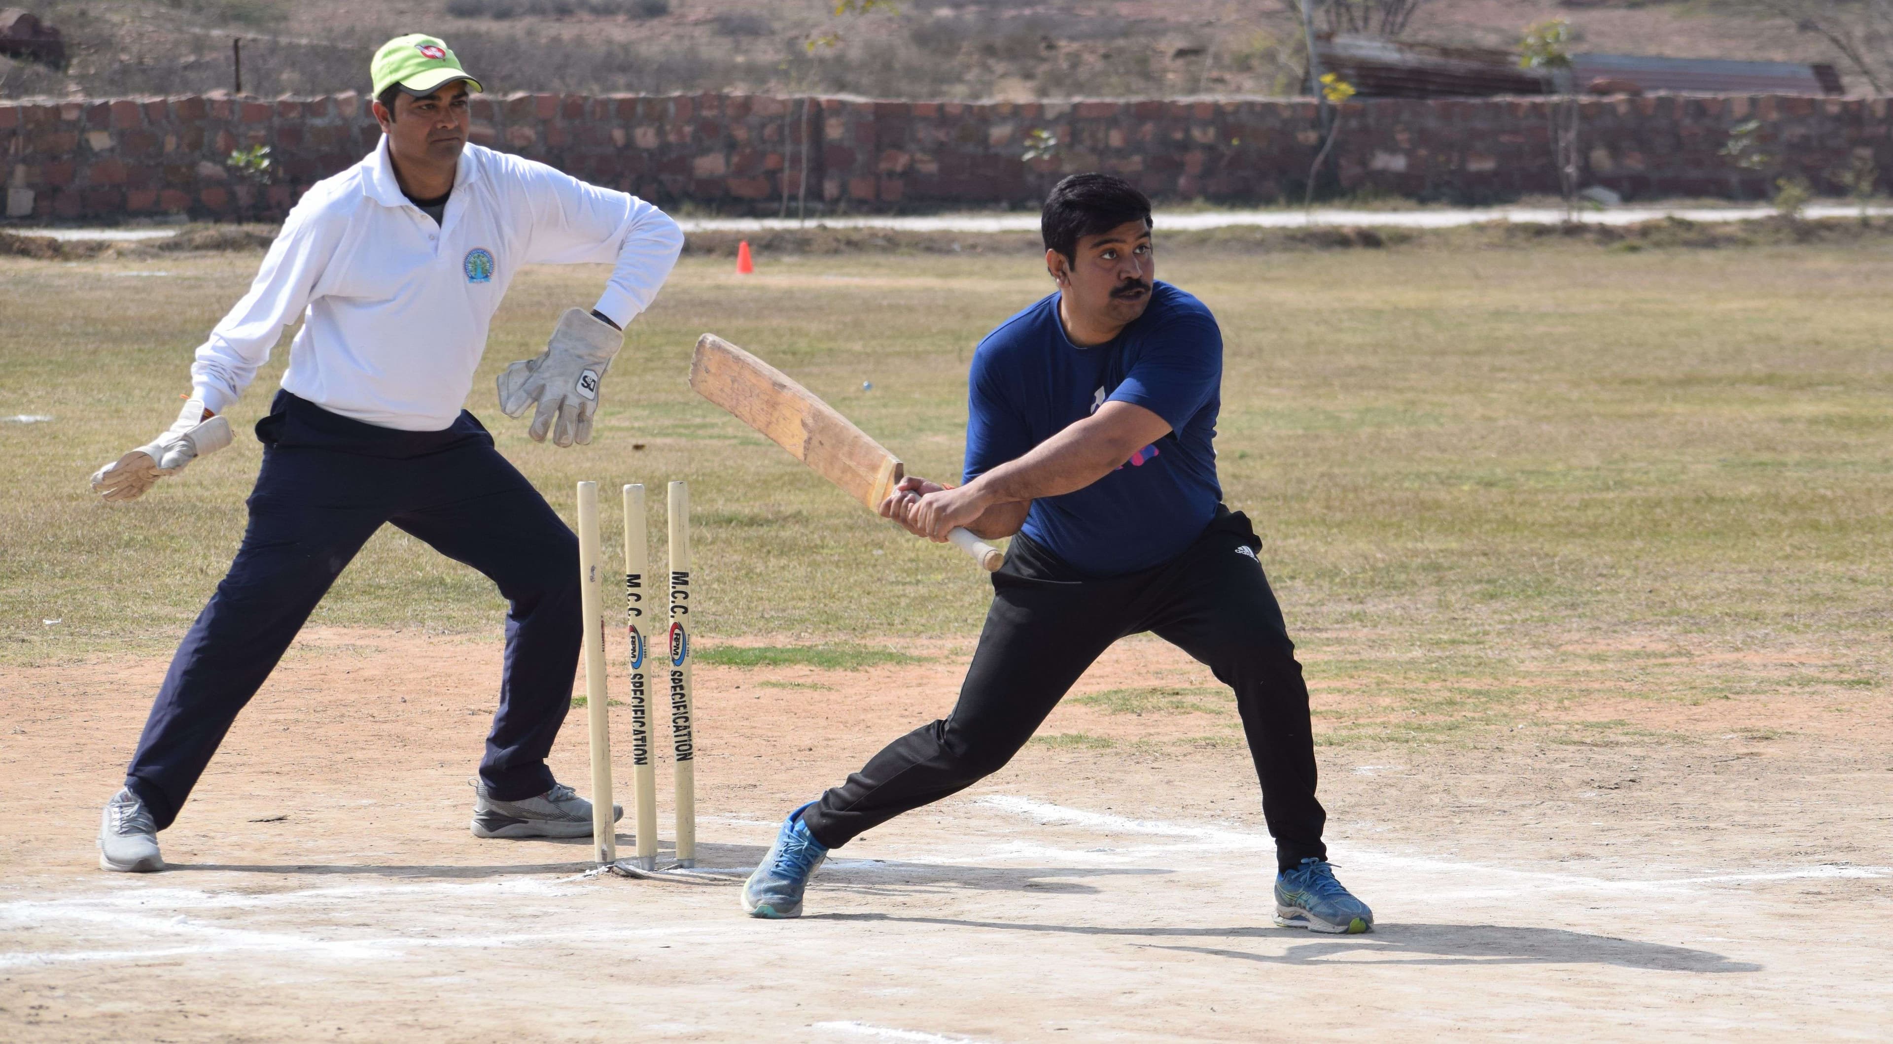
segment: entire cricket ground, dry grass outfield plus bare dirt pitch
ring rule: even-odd
[[[967,352],[1045,289],[1028,255],[685,259],[575,450],[528,443],[490,378],[602,270],[522,272],[496,322],[469,409],[555,507],[577,478],[693,484],[700,836],[731,874],[594,879],[585,845],[466,834],[502,605],[392,531],[165,834],[180,868],[98,874],[97,808],[240,535],[282,359],[231,450],[133,505],[85,475],[168,420],[254,265],[0,259],[0,1036],[1893,1025],[1884,246],[1160,257],[1225,329],[1227,499],[1308,666],[1342,879],[1380,915],[1348,940],[1268,927],[1230,700],[1143,639],[1005,772],[837,853],[810,917],[736,914],[729,879],[793,802],[950,705],[986,588],[699,401],[689,346],[744,344],[952,477]]]

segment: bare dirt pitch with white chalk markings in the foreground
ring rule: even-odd
[[[731,870],[704,883],[468,834],[496,639],[307,634],[163,836],[174,868],[136,878],[95,868],[93,830],[165,662],[8,670],[0,1038],[1893,1035],[1887,715],[1789,700],[1740,707],[1779,724],[1743,732],[1672,705],[1649,743],[1323,745],[1369,936],[1270,927],[1270,844],[1215,705],[1068,702],[1000,775],[839,853],[808,917],[742,917],[734,872],[776,819],[943,713],[965,645],[700,668],[700,855]],[[1079,694],[1151,683],[1210,685],[1132,639]],[[583,785],[583,713],[553,764]]]

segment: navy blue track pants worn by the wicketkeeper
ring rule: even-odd
[[[394,431],[278,392],[256,433],[250,528],[178,645],[125,774],[157,826],[178,817],[237,713],[382,522],[500,584],[505,673],[479,774],[498,800],[545,792],[581,639],[572,530],[464,410],[445,431]]]

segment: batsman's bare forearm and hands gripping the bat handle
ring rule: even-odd
[[[918,497],[918,486],[903,490],[905,501],[893,503],[895,497],[890,497],[882,514],[935,541],[945,541],[954,526],[965,526],[981,537],[1005,537],[1018,531],[1034,499],[1083,490],[1168,433],[1170,422],[1143,407],[1106,403],[1026,456],[1001,463],[958,490],[931,488]]]

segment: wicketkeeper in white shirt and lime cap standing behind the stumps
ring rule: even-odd
[[[589,443],[621,329],[657,297],[683,235],[636,197],[469,146],[468,95],[481,85],[441,40],[390,40],[371,72],[380,146],[290,212],[250,293],[197,350],[178,422],[93,475],[108,501],[127,501],[227,446],[223,410],[303,320],[256,426],[263,467],[242,547],[178,647],[125,789],[106,804],[106,870],[163,868],[157,830],[384,522],[479,569],[511,605],[473,832],[591,834],[591,802],[545,766],[577,670],[577,539],[460,405],[521,265],[611,263],[598,304],[568,310],[540,357],[500,376],[507,416],[536,407],[534,439]]]

